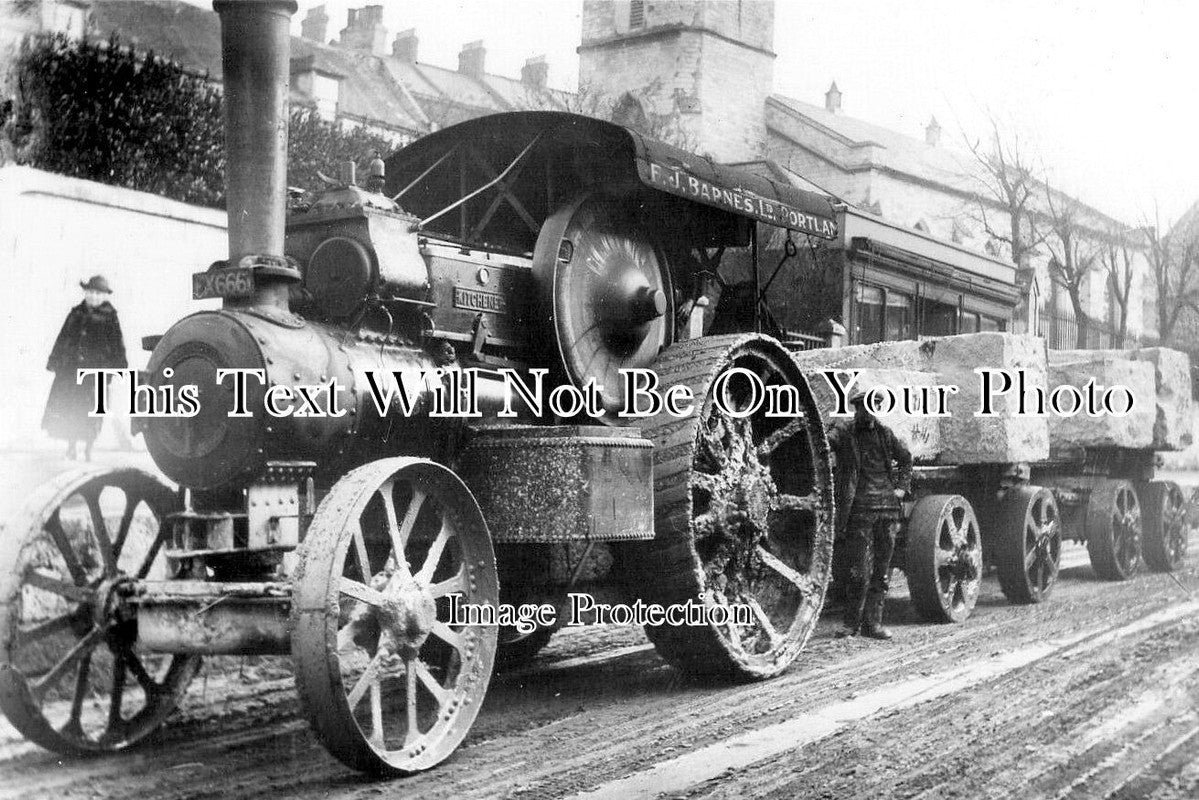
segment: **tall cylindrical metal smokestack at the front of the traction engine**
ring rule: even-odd
[[[225,207],[229,264],[246,255],[283,266],[287,218],[288,78],[295,0],[215,0],[224,65]],[[266,257],[266,258],[263,258]],[[288,307],[283,279],[259,273],[255,303]],[[282,275],[281,275],[282,273]],[[259,281],[259,277],[264,278]],[[299,278],[295,275],[295,278]]]

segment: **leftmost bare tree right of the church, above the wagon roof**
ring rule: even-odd
[[[987,235],[1007,247],[1012,261],[1026,266],[1029,257],[1044,240],[1034,207],[1041,181],[1020,136],[1002,128],[994,116],[990,130],[989,148],[963,134],[980,168],[972,175],[978,186],[974,213]]]

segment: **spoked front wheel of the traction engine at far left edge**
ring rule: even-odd
[[[175,710],[199,656],[137,648],[133,582],[165,577],[175,494],[139,469],[84,467],[0,524],[0,708],[64,754],[123,750]]]

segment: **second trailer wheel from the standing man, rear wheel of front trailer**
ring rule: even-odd
[[[1053,590],[1061,561],[1061,518],[1053,492],[1041,486],[1008,489],[998,523],[993,541],[1004,596],[1013,603],[1040,603]]]

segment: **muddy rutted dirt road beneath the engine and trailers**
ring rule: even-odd
[[[450,762],[390,782],[317,744],[285,662],[247,661],[131,753],[60,760],[4,724],[0,798],[1199,798],[1197,552],[1111,584],[1070,546],[1047,603],[988,577],[960,626],[917,622],[900,578],[893,642],[826,613],[766,684],[683,681],[633,628],[565,632],[495,678]]]

